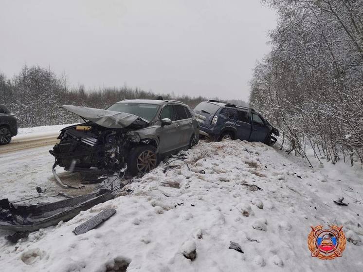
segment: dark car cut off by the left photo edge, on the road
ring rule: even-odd
[[[15,115],[0,104],[0,145],[7,145],[11,137],[18,134],[18,123]]]

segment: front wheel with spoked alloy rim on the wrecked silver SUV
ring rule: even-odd
[[[127,160],[128,172],[134,176],[145,174],[158,165],[158,154],[153,145],[139,145],[131,149]]]

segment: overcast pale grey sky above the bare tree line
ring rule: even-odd
[[[0,72],[244,99],[275,13],[259,0],[0,0]]]

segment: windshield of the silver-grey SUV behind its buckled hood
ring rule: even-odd
[[[154,119],[158,109],[159,105],[142,103],[116,103],[108,108],[108,110],[126,112],[139,116],[149,122]]]

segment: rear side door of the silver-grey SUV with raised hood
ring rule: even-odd
[[[182,105],[174,105],[174,110],[177,117],[177,127],[179,129],[179,143],[177,148],[182,148],[189,145],[190,137],[193,134],[193,120],[188,117],[187,108]],[[189,111],[189,110],[188,110]],[[190,114],[190,112],[189,112]]]

